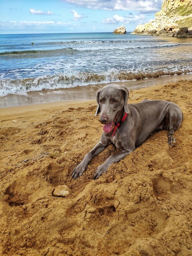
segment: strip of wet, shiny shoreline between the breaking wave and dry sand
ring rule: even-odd
[[[180,80],[192,80],[192,73],[162,76],[150,79],[141,79],[136,81],[125,82],[110,82],[122,84],[127,86],[128,90],[137,90],[140,88],[147,88],[156,85],[164,85],[167,83],[174,83]],[[62,101],[87,101],[96,98],[96,91],[106,84],[78,86],[74,88],[56,89],[56,90],[42,90],[18,94],[8,94],[0,96],[0,112],[4,108],[18,107],[18,106],[33,106],[45,103],[54,103]]]

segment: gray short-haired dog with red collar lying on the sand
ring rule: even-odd
[[[110,84],[97,92],[99,121],[104,124],[100,141],[85,155],[74,168],[72,177],[77,179],[86,170],[93,157],[113,143],[121,153],[111,155],[100,165],[94,179],[105,173],[108,167],[123,159],[140,146],[153,132],[168,130],[168,143],[174,146],[174,131],[183,121],[179,106],[170,101],[144,100],[141,103],[127,104],[129,91],[124,85]]]

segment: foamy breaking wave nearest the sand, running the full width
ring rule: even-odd
[[[95,84],[105,84],[112,82],[124,82],[155,78],[159,76],[168,76],[176,74],[192,73],[190,67],[166,67],[161,69],[143,69],[143,70],[116,70],[110,69],[100,73],[70,72],[54,76],[38,76],[27,79],[1,79],[0,95],[12,93],[24,93],[40,90],[55,90],[62,88],[74,88],[76,86],[86,86]]]

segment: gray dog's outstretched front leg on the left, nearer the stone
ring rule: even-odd
[[[94,146],[94,148],[85,155],[82,162],[76,166],[72,172],[72,178],[76,180],[78,177],[80,177],[84,171],[86,170],[89,162],[93,157],[101,153],[105,148],[107,148],[109,144],[103,145],[100,141]]]

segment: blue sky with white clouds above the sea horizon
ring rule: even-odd
[[[163,0],[0,0],[0,34],[127,32],[154,20]]]

